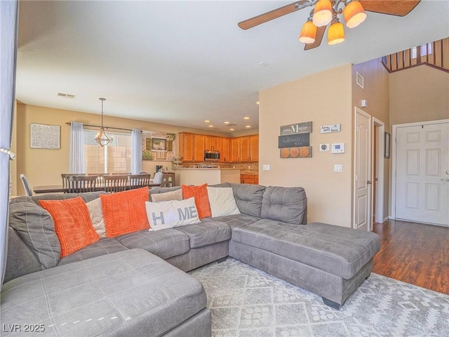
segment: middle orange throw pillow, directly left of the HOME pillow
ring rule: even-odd
[[[148,187],[100,194],[106,237],[117,237],[138,230],[149,229],[145,201],[149,201]]]

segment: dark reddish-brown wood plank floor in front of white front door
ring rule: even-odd
[[[449,227],[389,220],[373,232],[381,239],[373,272],[449,294]]]

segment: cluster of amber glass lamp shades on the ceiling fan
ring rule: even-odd
[[[338,8],[344,4],[344,9]],[[358,0],[315,0],[307,6],[314,6],[309,19],[304,23],[300,33],[300,42],[313,44],[316,37],[316,27],[326,26],[328,28],[328,44],[340,44],[344,41],[344,27],[337,18],[343,13],[346,27],[354,28],[366,19],[366,13]]]

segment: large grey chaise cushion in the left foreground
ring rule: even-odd
[[[34,272],[1,288],[1,323],[43,324],[45,336],[163,336],[205,306],[200,282],[140,249]]]

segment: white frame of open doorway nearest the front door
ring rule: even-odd
[[[384,223],[385,220],[388,219],[388,215],[384,218],[384,181],[385,181],[385,158],[384,158],[384,133],[385,133],[385,124],[380,119],[373,117],[373,125],[372,133],[374,138],[374,131],[377,131],[377,142],[376,142],[376,172],[377,172],[377,183],[375,184],[376,189],[376,210],[375,210],[375,222],[376,223]],[[371,147],[372,159],[371,163],[374,167],[374,151],[373,147]],[[371,168],[371,173],[373,173],[373,167]],[[373,181],[375,177],[372,177]],[[373,211],[373,194],[374,188],[371,189],[371,211]],[[373,230],[373,224],[371,224],[371,230]]]

